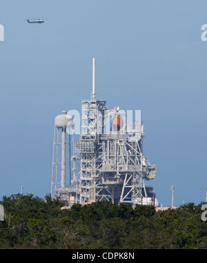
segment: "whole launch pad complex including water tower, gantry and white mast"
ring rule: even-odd
[[[51,194],[60,197],[66,206],[104,200],[132,206],[155,204],[153,189],[144,183],[155,179],[156,174],[156,165],[151,165],[143,155],[144,125],[140,120],[115,131],[111,129],[111,119],[114,120],[116,114],[120,116],[119,108],[108,110],[105,100],[96,99],[93,59],[92,97],[82,101],[81,135],[75,144],[73,134],[72,157],[70,135],[66,134],[68,123],[74,127],[72,117],[63,111],[55,120]]]

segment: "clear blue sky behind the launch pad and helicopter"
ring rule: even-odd
[[[204,0],[61,0],[0,4],[0,198],[50,192],[54,118],[91,93],[141,109],[157,198],[205,198],[207,24]],[[28,18],[43,18],[31,25]]]

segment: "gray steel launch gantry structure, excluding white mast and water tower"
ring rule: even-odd
[[[143,123],[106,134],[106,118],[106,101],[82,101],[81,137],[76,143],[81,160],[79,203],[142,204],[148,199],[144,180],[155,179],[156,172],[156,165],[143,156]]]

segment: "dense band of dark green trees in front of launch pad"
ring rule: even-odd
[[[61,210],[61,202],[12,195],[0,202],[0,248],[207,248],[201,205],[155,212],[150,206],[97,202]]]

